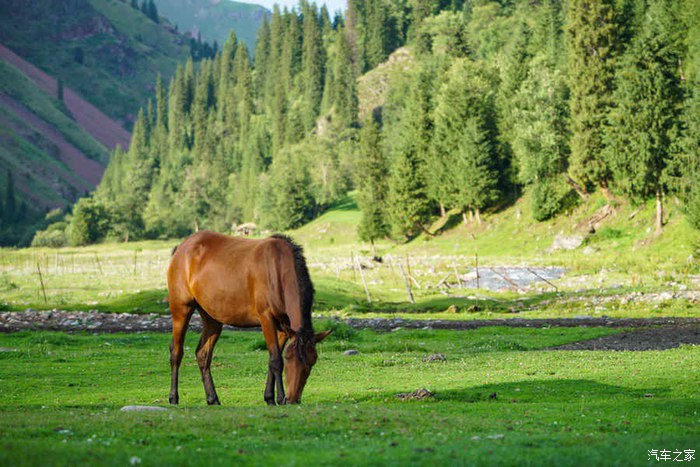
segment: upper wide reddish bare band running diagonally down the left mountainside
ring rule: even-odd
[[[22,70],[25,75],[50,95],[56,95],[57,83],[54,78],[3,45],[0,45],[0,59]],[[107,149],[114,149],[117,144],[124,149],[129,147],[131,135],[128,131],[67,86],[63,88],[63,101],[80,126],[85,128],[97,141],[104,144]]]

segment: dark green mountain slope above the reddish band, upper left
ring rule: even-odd
[[[0,43],[130,128],[189,53],[184,36],[118,0],[8,0]]]

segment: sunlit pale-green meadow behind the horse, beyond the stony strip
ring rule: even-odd
[[[655,237],[645,228],[652,225],[653,206],[620,205],[576,250],[550,251],[556,235],[582,235],[572,225],[585,224],[602,206],[602,198],[594,199],[568,217],[536,223],[529,220],[526,198],[501,213],[485,216],[481,226],[464,226],[461,217],[452,218],[454,225],[441,235],[423,235],[407,244],[382,241],[373,249],[357,238],[360,213],[353,197],[348,197],[290,234],[305,247],[317,290],[315,311],[322,315],[407,319],[698,316],[697,305],[683,297],[624,298],[633,292],[677,293],[700,288],[700,239],[677,209],[670,211],[665,233]],[[2,249],[0,309],[166,313],[165,271],[177,243],[159,240]],[[374,250],[382,256],[381,263],[371,260]],[[557,266],[567,273],[550,283],[536,280],[519,290],[444,286],[454,285],[455,272],[468,273],[477,260],[482,271],[503,266]],[[410,276],[407,280],[415,303],[409,301],[402,268]]]

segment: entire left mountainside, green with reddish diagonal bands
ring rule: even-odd
[[[186,42],[120,1],[0,3],[0,243],[31,240],[45,211],[93,190]]]

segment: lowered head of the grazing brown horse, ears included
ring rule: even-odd
[[[316,344],[325,339],[332,330],[319,332],[305,337],[301,334],[292,335],[292,339],[284,352],[284,375],[287,380],[287,403],[301,402],[301,393],[306,380],[311,374],[311,368],[318,359]]]

